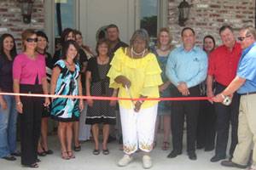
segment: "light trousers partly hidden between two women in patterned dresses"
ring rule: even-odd
[[[90,139],[90,125],[85,124],[86,113],[87,113],[87,103],[84,102],[84,110],[81,111],[79,119],[79,140],[85,141]]]

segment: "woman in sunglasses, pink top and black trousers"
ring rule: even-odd
[[[38,37],[27,29],[21,34],[23,53],[15,57],[13,65],[14,92],[21,94],[48,94],[45,59],[36,53]],[[38,139],[40,136],[43,106],[49,98],[15,96],[16,109],[20,113],[21,164],[38,167]]]

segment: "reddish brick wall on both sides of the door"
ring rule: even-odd
[[[177,6],[182,0],[169,0],[168,23],[172,31],[174,43],[180,42]],[[254,0],[187,0],[192,4],[186,26],[195,29],[197,43],[201,44],[204,36],[211,34],[218,44],[218,28],[230,24],[237,30],[242,25],[254,26]],[[24,24],[18,0],[0,0],[0,35],[9,32],[15,36],[20,49],[20,33],[26,28],[44,29],[44,0],[35,0],[33,5],[32,23]]]

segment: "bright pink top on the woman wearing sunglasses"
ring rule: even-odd
[[[38,54],[36,59],[30,59],[26,54],[18,54],[13,65],[13,77],[20,84],[42,84],[42,78],[46,77],[44,55]]]

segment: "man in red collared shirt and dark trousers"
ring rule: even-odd
[[[241,57],[241,46],[236,42],[233,29],[230,26],[222,26],[219,35],[223,45],[216,48],[209,57],[207,76],[207,96],[213,97],[212,82],[216,82],[216,92],[219,94],[236,77],[238,61]],[[234,94],[230,105],[214,103],[217,116],[216,131],[217,141],[215,156],[211,161],[220,161],[226,158],[226,149],[229,139],[230,122],[232,127],[230,157],[233,156],[237,144],[239,94]],[[211,101],[212,102],[212,101]]]

